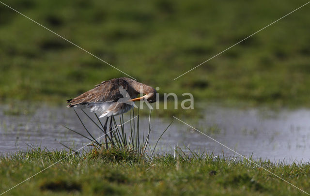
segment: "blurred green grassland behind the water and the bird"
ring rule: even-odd
[[[1,0],[160,93],[310,106],[306,0]],[[126,75],[0,4],[0,100],[65,103]]]

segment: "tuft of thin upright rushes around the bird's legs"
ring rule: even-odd
[[[75,110],[74,110],[75,111]],[[163,131],[161,136],[157,139],[155,146],[152,148],[149,143],[149,138],[151,134],[151,112],[148,119],[148,129],[143,130],[140,133],[140,116],[139,110],[138,115],[135,116],[134,109],[130,112],[130,120],[124,121],[124,115],[119,117],[119,122],[114,117],[113,123],[111,124],[110,130],[105,129],[104,125],[101,123],[98,116],[95,114],[96,121],[94,121],[83,109],[82,112],[92,121],[98,131],[103,133],[99,138],[95,138],[90,130],[85,126],[85,123],[81,120],[79,114],[75,111],[78,116],[79,121],[84,127],[87,135],[78,133],[77,131],[70,129],[66,126],[68,130],[83,136],[91,141],[88,146],[93,147],[90,151],[91,157],[102,158],[108,161],[131,161],[139,162],[141,159],[151,159],[154,155],[158,141],[163,136],[163,134],[168,130],[173,121],[168,125],[168,127]],[[124,126],[126,123],[130,126]],[[128,128],[129,127],[129,128]],[[65,146],[66,147],[66,146]],[[68,148],[68,147],[67,147]],[[70,148],[69,148],[70,149]]]

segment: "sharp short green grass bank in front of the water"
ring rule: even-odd
[[[65,151],[35,149],[0,157],[0,193],[67,156]],[[310,166],[258,164],[310,192]],[[7,195],[305,195],[288,183],[247,160],[215,155],[141,159],[125,151],[88,152],[71,155],[51,166]]]

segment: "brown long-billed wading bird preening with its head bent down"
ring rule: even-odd
[[[137,97],[139,94],[144,94]],[[124,114],[134,107],[136,101],[156,102],[156,90],[146,84],[128,77],[113,78],[95,85],[81,95],[67,100],[68,108],[90,108],[99,118],[107,117],[104,132],[107,133],[107,123],[110,118],[109,130],[112,130],[112,118]],[[112,138],[111,134],[111,138]],[[107,138],[106,138],[107,144]],[[108,146],[107,146],[108,148]]]

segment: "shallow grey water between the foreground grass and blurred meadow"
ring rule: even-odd
[[[68,131],[62,125],[86,134],[71,109],[43,106],[29,115],[5,115],[7,106],[0,107],[0,152],[27,150],[28,145],[47,147],[49,150],[64,148],[61,144],[79,149],[89,141]],[[83,116],[83,121],[87,118]],[[265,108],[238,109],[206,106],[201,120],[180,120],[192,125],[232,150],[253,158],[262,157],[273,162],[304,162],[310,159],[310,110],[278,110]],[[93,116],[93,114],[90,114]],[[129,120],[129,115],[125,120]],[[151,145],[171,120],[152,118]],[[102,132],[91,121],[86,126],[97,138]],[[127,123],[125,126],[130,126]],[[140,130],[147,130],[148,119],[140,118]],[[145,133],[146,134],[146,133]],[[28,144],[28,145],[27,145]],[[160,152],[173,153],[178,146],[186,150],[206,151],[225,156],[235,153],[203,136],[181,121],[175,120],[158,144]]]

